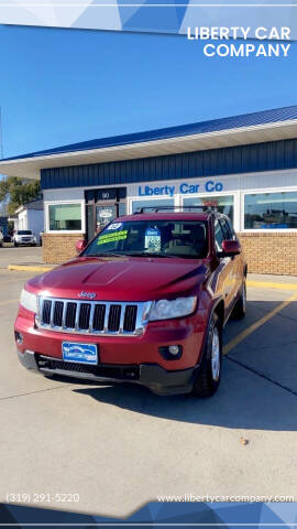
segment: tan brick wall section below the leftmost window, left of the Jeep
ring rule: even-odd
[[[46,263],[58,264],[76,256],[75,245],[84,234],[43,235],[43,260]]]

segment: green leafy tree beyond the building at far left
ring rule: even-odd
[[[15,209],[25,202],[37,198],[40,194],[41,186],[36,180],[7,176],[0,181],[0,202],[8,204],[8,213],[10,215],[13,215]]]

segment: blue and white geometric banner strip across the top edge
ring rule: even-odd
[[[187,34],[189,28],[289,28],[297,40],[297,3],[270,0],[0,0],[2,24]]]

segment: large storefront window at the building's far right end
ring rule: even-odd
[[[297,192],[244,195],[244,228],[297,228]]]

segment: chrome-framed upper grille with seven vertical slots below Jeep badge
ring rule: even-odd
[[[74,301],[38,298],[36,324],[41,328],[80,334],[140,335],[151,302]]]

